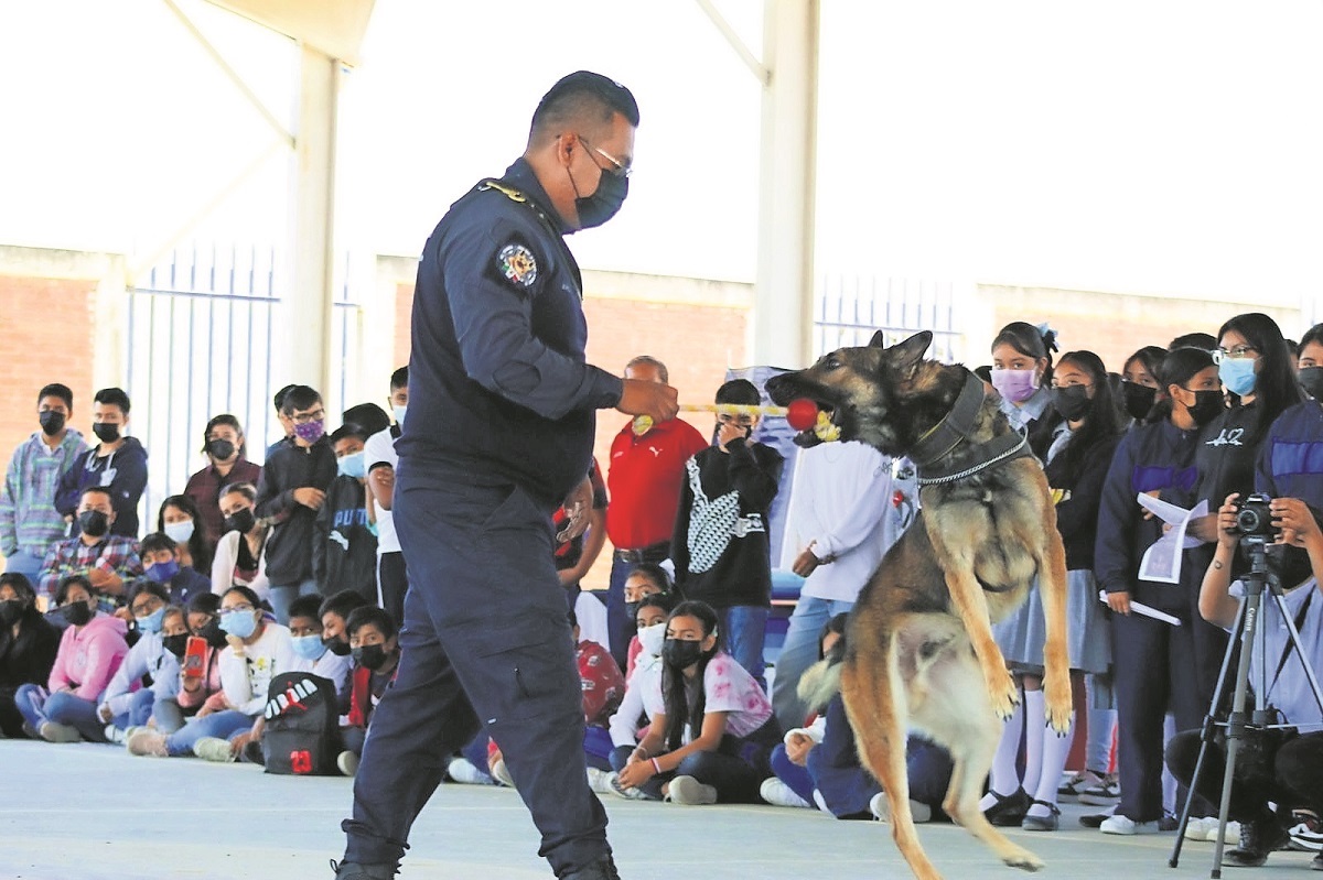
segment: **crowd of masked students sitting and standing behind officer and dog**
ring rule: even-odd
[[[1184,731],[1200,727],[1213,700],[1233,583],[1244,573],[1229,527],[1252,493],[1273,498],[1273,571],[1290,588],[1304,659],[1323,669],[1323,599],[1314,599],[1323,571],[1323,325],[1295,344],[1270,317],[1240,314],[1216,336],[1140,348],[1113,373],[1093,351],[1060,354],[1052,330],[1017,321],[988,354],[976,373],[1027,435],[1053,490],[1069,569],[1072,683],[1089,712],[1085,766],[1066,776],[1073,731],[1044,735],[1045,625],[1033,593],[996,628],[1023,699],[983,807],[995,825],[1052,831],[1058,801],[1078,798],[1113,807],[1082,819],[1105,832],[1172,830],[1176,781],[1164,786],[1163,769],[1171,764],[1189,781]],[[631,361],[626,375],[667,381],[651,357]],[[318,392],[283,388],[275,404],[286,436],[262,466],[247,461],[238,420],[213,418],[206,468],[139,536],[147,452],[124,433],[128,396],[97,392],[89,445],[71,427],[69,388],[41,388],[40,431],[15,452],[0,495],[0,731],[261,762],[280,711],[273,682],[308,674],[335,688],[336,765],[352,776],[400,657],[407,579],[390,509],[406,369],[392,377],[389,402],[394,419],[361,404],[328,433]],[[685,423],[631,423],[605,474],[593,465],[587,534],[557,548],[589,774],[597,790],[632,799],[765,801],[885,818],[840,696],[816,692],[804,671],[844,650],[845,613],[918,506],[913,468],[857,444],[824,444],[800,452],[794,485],[782,486],[782,455],[755,439],[759,416],[747,407],[759,402],[750,382],[726,382],[710,439]],[[783,490],[786,559],[771,560],[769,511]],[[1189,522],[1177,583],[1142,568],[1166,530],[1142,495],[1212,511]],[[615,550],[603,603],[578,581],[607,536]],[[807,580],[769,695],[762,657],[774,562]],[[1279,765],[1270,760],[1266,777],[1259,768],[1237,782],[1234,864],[1262,864],[1291,840],[1323,844],[1323,708],[1311,706],[1301,675],[1283,658],[1265,695],[1294,729]],[[914,815],[942,818],[950,761],[914,739],[909,768]],[[512,784],[486,736],[452,757],[448,776]],[[1201,780],[1199,791],[1208,790]],[[1196,798],[1203,821],[1187,834],[1212,834],[1215,814]],[[1312,867],[1323,869],[1320,859]]]

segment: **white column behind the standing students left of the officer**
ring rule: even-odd
[[[275,345],[288,354],[275,385],[311,385],[325,396],[339,374],[331,351],[332,262],[335,254],[336,120],[340,62],[300,48],[300,90],[291,186],[290,277],[283,328]],[[335,369],[333,369],[335,367]]]

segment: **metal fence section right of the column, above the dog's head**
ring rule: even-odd
[[[957,361],[962,351],[959,291],[951,281],[860,275],[823,276],[814,304],[815,354],[868,345],[882,332],[886,345],[933,332],[933,357]]]

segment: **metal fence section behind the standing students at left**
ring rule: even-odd
[[[258,464],[282,436],[271,406],[288,383],[278,267],[274,248],[193,247],[176,251],[128,291],[124,390],[134,403],[130,432],[149,453],[139,509],[144,531],[155,530],[160,502],[206,465],[202,431],[212,416],[229,412],[239,420],[247,457]],[[341,369],[321,390],[332,427],[361,348],[348,268],[348,259],[339,262],[331,340]]]

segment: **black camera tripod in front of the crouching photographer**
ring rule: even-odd
[[[1217,674],[1217,688],[1213,692],[1213,703],[1209,706],[1208,715],[1204,717],[1204,727],[1200,732],[1199,760],[1195,762],[1195,776],[1189,781],[1189,790],[1185,794],[1185,806],[1180,813],[1180,827],[1176,830],[1176,846],[1172,848],[1171,859],[1167,863],[1175,868],[1180,862],[1180,848],[1185,842],[1185,826],[1189,825],[1189,811],[1195,803],[1195,798],[1197,797],[1199,777],[1204,770],[1204,758],[1208,757],[1208,745],[1213,741],[1216,728],[1225,728],[1226,766],[1222,770],[1222,798],[1217,809],[1217,838],[1213,850],[1213,869],[1209,875],[1213,880],[1218,880],[1218,877],[1222,876],[1222,850],[1225,847],[1222,835],[1226,832],[1226,810],[1230,806],[1232,799],[1232,782],[1236,776],[1236,757],[1240,753],[1246,733],[1294,727],[1275,723],[1277,712],[1266,703],[1267,695],[1262,690],[1254,692],[1254,711],[1252,714],[1246,714],[1245,711],[1246,696],[1249,695],[1249,662],[1250,654],[1254,650],[1256,637],[1259,641],[1261,657],[1263,654],[1263,632],[1259,626],[1259,614],[1263,609],[1265,588],[1271,593],[1273,600],[1277,603],[1277,610],[1286,622],[1287,638],[1290,640],[1287,651],[1295,654],[1297,659],[1304,667],[1304,675],[1308,678],[1310,687],[1314,690],[1314,699],[1319,704],[1319,711],[1323,711],[1323,692],[1319,691],[1319,683],[1314,677],[1314,670],[1310,669],[1308,659],[1301,650],[1301,634],[1295,629],[1295,621],[1287,610],[1286,600],[1282,596],[1282,585],[1279,583],[1271,583],[1267,577],[1267,540],[1263,535],[1245,535],[1241,538],[1241,547],[1244,547],[1249,554],[1250,562],[1249,573],[1241,579],[1241,583],[1245,584],[1245,600],[1236,612],[1236,622],[1232,626],[1232,638],[1226,645],[1226,654],[1222,657],[1222,669]],[[1310,587],[1310,589],[1315,588]],[[1236,690],[1232,696],[1230,715],[1225,721],[1222,721],[1217,720],[1217,714],[1220,712],[1220,707],[1222,704],[1222,694],[1226,688],[1226,673],[1230,669],[1232,657],[1236,655],[1237,643],[1240,645],[1240,662],[1236,666]],[[1263,661],[1261,659],[1261,667],[1262,662]]]

